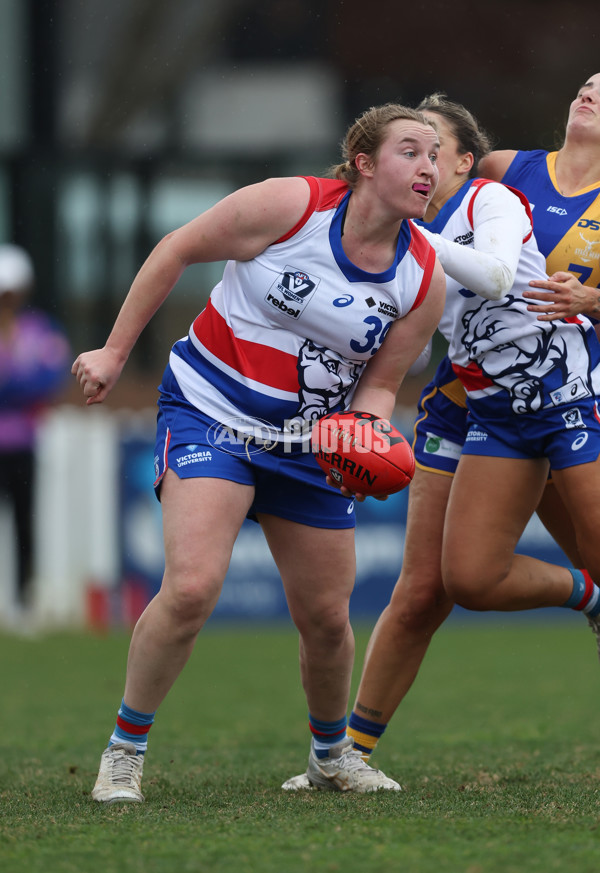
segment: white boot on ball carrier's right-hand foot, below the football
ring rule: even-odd
[[[402,791],[397,782],[363,761],[351,737],[332,746],[327,758],[317,758],[311,743],[306,773],[288,779],[281,787],[285,791],[318,788],[321,791],[354,791],[357,794],[381,789]]]

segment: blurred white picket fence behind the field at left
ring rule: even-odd
[[[102,408],[62,406],[38,440],[34,574],[30,620],[36,626],[82,625],[89,586],[118,584],[117,463],[119,419]],[[8,504],[0,515],[0,616],[15,608],[15,531]]]

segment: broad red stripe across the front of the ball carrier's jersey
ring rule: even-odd
[[[237,373],[271,388],[298,393],[297,356],[239,339],[210,300],[192,330],[205,349]]]

